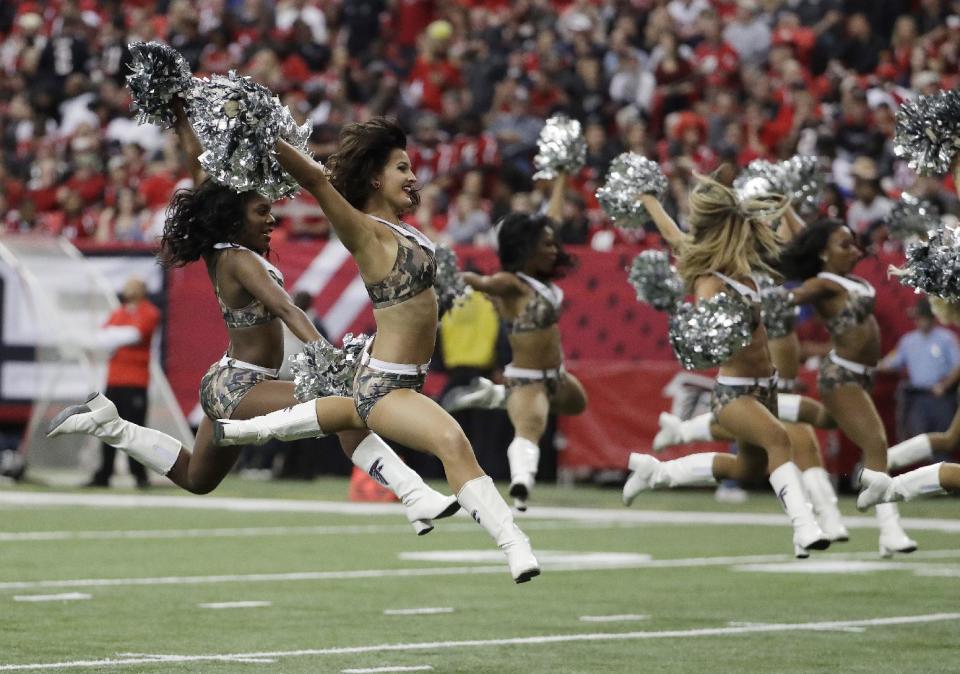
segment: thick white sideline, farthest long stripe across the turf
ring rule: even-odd
[[[235,498],[221,496],[152,496],[144,494],[59,494],[42,492],[0,492],[0,505],[90,506],[100,508],[189,508],[231,512],[298,512],[336,515],[393,515],[402,512],[399,503],[345,503],[296,499]],[[462,511],[457,517],[467,517]],[[783,513],[718,513],[699,511],[619,510],[614,508],[568,508],[538,506],[518,518],[581,522],[625,522],[632,524],[693,524],[787,526]],[[844,517],[847,528],[876,529],[874,517]],[[960,520],[934,517],[904,517],[905,529],[960,533]]]

